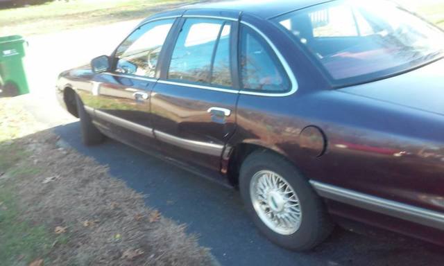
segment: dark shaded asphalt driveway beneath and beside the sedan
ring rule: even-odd
[[[87,148],[78,122],[54,127],[65,144],[94,157],[110,174],[146,195],[146,204],[187,224],[221,265],[443,265],[444,249],[418,240],[364,236],[336,229],[314,251],[297,253],[268,242],[244,212],[239,192],[117,141]]]

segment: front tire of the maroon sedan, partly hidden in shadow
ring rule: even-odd
[[[98,145],[103,143],[105,140],[105,135],[100,132],[97,127],[92,123],[92,118],[85,111],[85,107],[83,107],[82,100],[76,94],[76,105],[78,117],[80,118],[80,128],[82,131],[82,139],[83,143],[87,146]]]

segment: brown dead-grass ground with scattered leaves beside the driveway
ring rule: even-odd
[[[9,104],[0,100],[0,109]],[[33,124],[29,116],[28,121],[11,121],[11,116],[0,112],[2,123]],[[22,156],[0,164],[0,186],[13,192],[18,222],[45,228],[51,239],[40,254],[45,265],[214,264],[209,250],[187,235],[184,225],[147,208],[144,196],[110,177],[108,168],[60,148],[58,141],[44,130],[0,143],[0,161],[8,157],[5,153],[22,150]],[[0,249],[7,241],[0,230]],[[19,260],[19,254],[10,255]]]

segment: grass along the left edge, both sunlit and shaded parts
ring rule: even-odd
[[[39,168],[17,167],[17,163],[29,156],[20,145],[14,143],[26,134],[38,130],[38,125],[19,127],[18,121],[32,121],[31,116],[14,105],[0,103],[0,261],[4,265],[27,265],[35,258],[44,258],[59,236],[53,236],[42,225],[33,226],[20,215],[18,199],[12,181],[22,175],[38,175]],[[15,114],[12,117],[8,114]],[[5,119],[8,116],[8,119]],[[65,238],[65,236],[63,237]],[[48,260],[46,260],[48,261]],[[2,264],[3,265],[3,264]]]

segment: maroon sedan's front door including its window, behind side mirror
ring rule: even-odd
[[[148,22],[131,33],[114,53],[114,70],[96,74],[91,94],[83,97],[102,130],[137,148],[155,144],[150,96],[157,59],[174,21]]]

